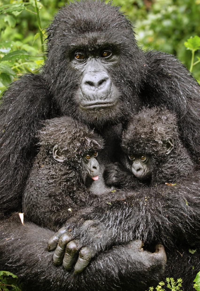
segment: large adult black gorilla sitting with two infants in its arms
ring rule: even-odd
[[[40,290],[139,291],[160,278],[165,256],[161,245],[150,253],[141,251],[138,241],[128,244],[130,240],[145,239],[149,244],[161,240],[172,246],[177,240],[188,248],[191,239],[193,243],[199,241],[198,173],[196,183],[182,182],[176,190],[159,188],[154,190],[156,193],[149,190],[150,199],[146,199],[146,191],[138,194],[139,200],[135,194],[128,193],[127,204],[124,200],[114,201],[106,212],[105,207],[95,207],[92,214],[84,209],[77,214],[75,221],[84,216],[95,218],[97,225],[96,231],[92,226],[92,232],[90,222],[86,221],[86,228],[81,225],[79,231],[79,225],[71,222],[72,233],[74,237],[77,233],[82,245],[93,244],[96,251],[104,251],[115,244],[126,244],[102,252],[79,275],[53,266],[53,253],[46,251],[52,231],[31,223],[24,227],[12,217],[6,219],[11,210],[21,209],[21,194],[35,155],[35,134],[41,120],[70,115],[95,127],[105,139],[99,159],[103,173],[104,165],[117,161],[121,124],[143,104],[165,105],[175,113],[182,140],[198,159],[199,86],[183,65],[167,54],[142,52],[136,45],[130,22],[116,7],[100,1],[83,1],[62,8],[48,29],[48,58],[44,68],[37,75],[21,77],[3,97],[1,269],[24,278],[32,290],[38,290],[39,286]],[[106,189],[103,179],[99,179],[92,190],[101,195]],[[154,197],[157,197],[155,204]],[[109,227],[112,235],[111,231],[103,231],[102,235],[104,227]],[[88,235],[94,235],[95,239]],[[175,266],[175,253],[172,249],[170,267]],[[198,264],[199,261],[194,262],[195,272]],[[178,262],[178,267],[174,267],[179,269],[177,276],[182,266],[183,262]]]

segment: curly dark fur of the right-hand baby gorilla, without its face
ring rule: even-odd
[[[174,148],[167,155],[166,144]],[[174,183],[194,171],[194,164],[179,137],[176,117],[166,109],[143,108],[131,118],[122,134],[122,149],[127,154],[146,154],[152,163],[152,184]]]

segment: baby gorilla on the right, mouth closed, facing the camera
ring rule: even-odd
[[[194,170],[176,118],[166,109],[143,108],[134,116],[123,131],[122,150],[121,164],[109,165],[104,172],[109,185],[138,189],[176,183]]]

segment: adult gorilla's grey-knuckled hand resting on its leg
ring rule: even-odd
[[[84,221],[77,234],[74,231],[72,235],[70,231],[66,227],[60,228],[49,239],[48,251],[55,249],[53,255],[55,265],[63,263],[66,270],[71,270],[75,264],[74,272],[78,274],[87,267],[91,258],[109,244],[113,235],[111,230],[105,230],[102,222],[96,220]],[[76,239],[77,237],[83,237],[87,245],[81,239]]]

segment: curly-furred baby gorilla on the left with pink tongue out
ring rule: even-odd
[[[57,230],[81,206],[91,205],[88,187],[98,180],[96,157],[103,141],[70,117],[46,120],[38,137],[40,150],[23,194],[23,211],[28,220]]]

